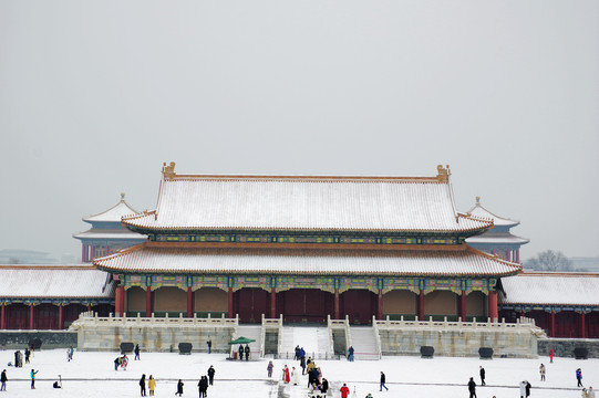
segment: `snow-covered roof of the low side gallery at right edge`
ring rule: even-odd
[[[503,304],[599,305],[599,274],[527,272],[502,284]]]

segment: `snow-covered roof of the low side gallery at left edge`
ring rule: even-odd
[[[111,298],[107,276],[91,265],[0,265],[0,297]]]

